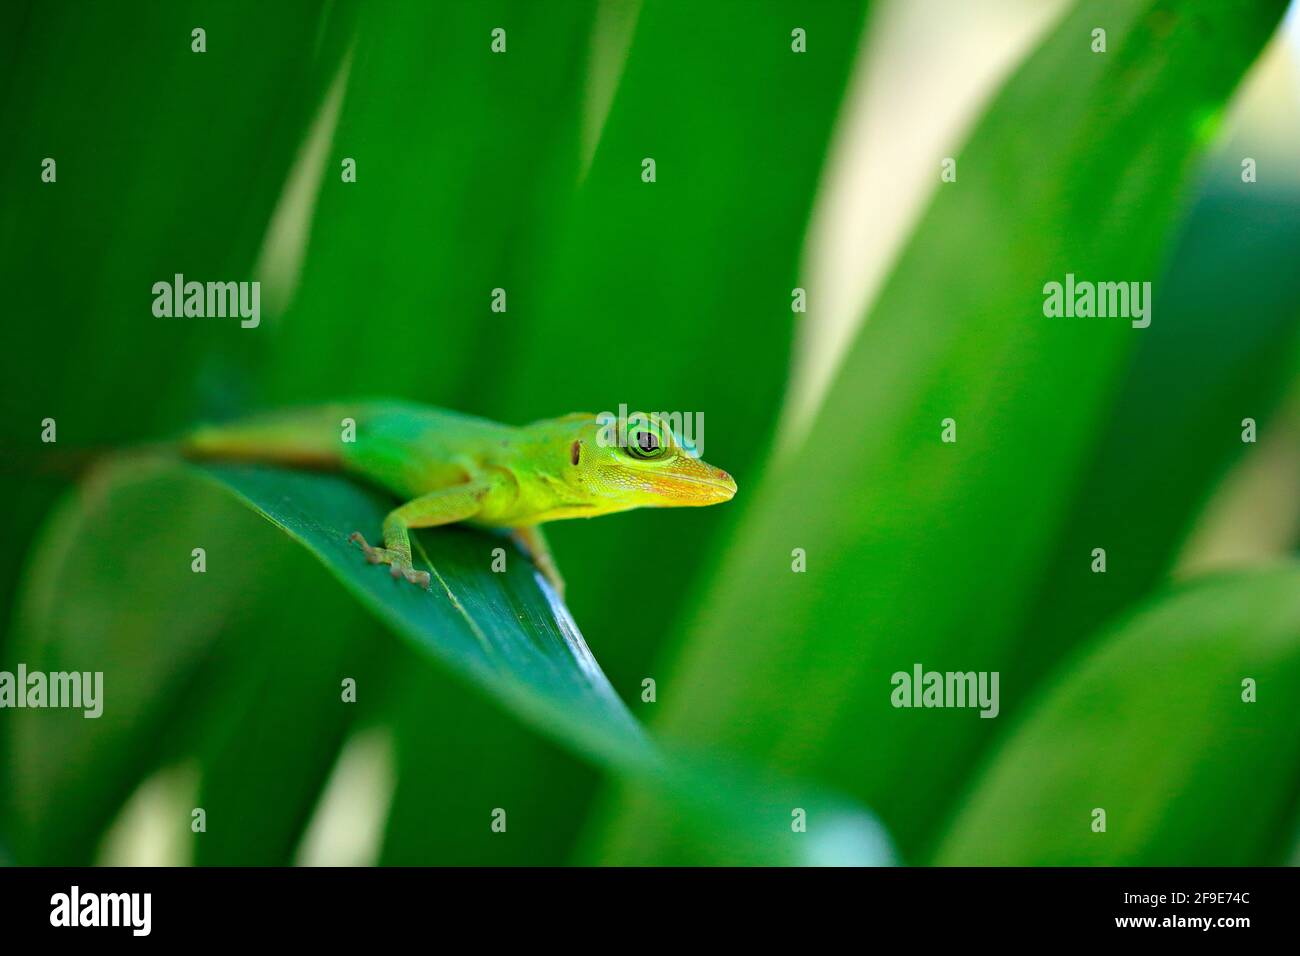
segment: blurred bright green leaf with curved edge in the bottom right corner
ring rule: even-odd
[[[972,784],[936,862],[1284,862],[1297,698],[1300,564],[1182,588],[1062,669]]]

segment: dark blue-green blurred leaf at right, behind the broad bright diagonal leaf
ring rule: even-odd
[[[1030,685],[1160,583],[1216,483],[1258,447],[1242,441],[1243,419],[1268,436],[1291,388],[1300,196],[1242,183],[1236,157],[1212,170],[1175,246],[1158,285],[1160,320],[1113,399],[1004,680]],[[1093,548],[1105,548],[1106,574],[1092,572]]]

